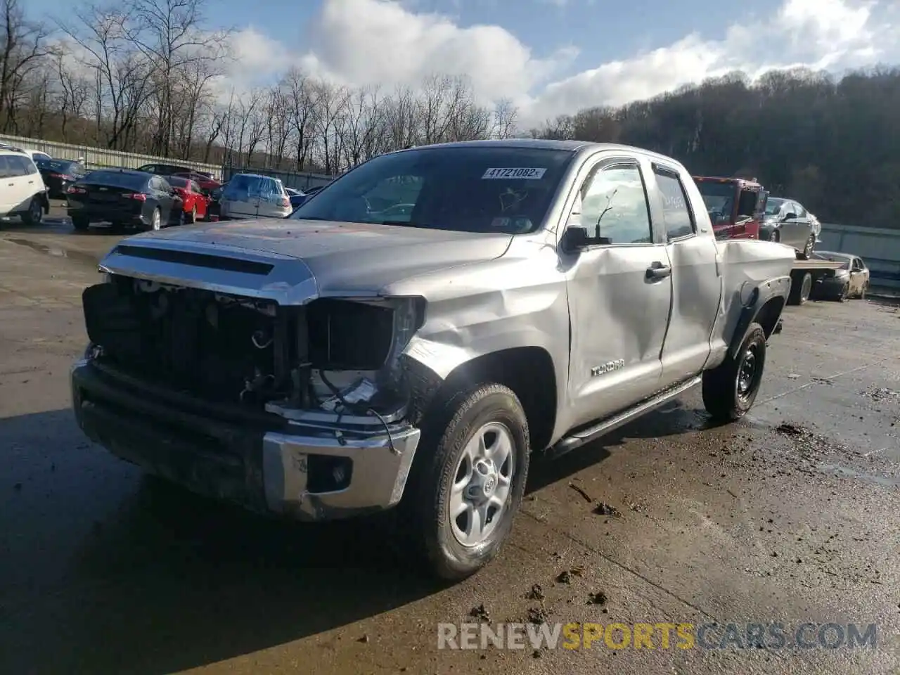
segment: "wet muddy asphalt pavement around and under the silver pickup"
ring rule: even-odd
[[[896,306],[788,308],[739,423],[710,426],[690,392],[599,443],[537,460],[500,557],[446,588],[421,578],[378,521],[258,518],[148,479],[86,441],[67,368],[85,345],[81,290],[119,237],[75,234],[65,220],[0,224],[0,672],[900,666]],[[439,623],[475,621],[718,627],[692,649],[658,639],[653,649],[604,639],[575,650],[437,648]],[[788,635],[806,623],[875,624],[877,644],[760,649],[723,637],[729,623],[743,635],[748,623],[776,622]]]

